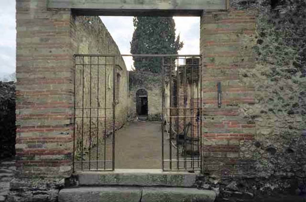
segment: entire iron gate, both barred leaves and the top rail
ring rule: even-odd
[[[162,170],[202,168],[200,55],[75,55],[74,171],[114,171],[116,57],[159,58]],[[112,86],[112,90],[107,89]],[[101,89],[101,87],[103,87]]]

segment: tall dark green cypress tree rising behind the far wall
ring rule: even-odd
[[[133,22],[132,54],[177,54],[184,45],[180,36],[175,38],[172,17],[134,17]],[[133,60],[136,70],[161,71],[161,58],[133,57]]]

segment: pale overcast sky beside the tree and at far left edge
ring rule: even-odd
[[[16,70],[16,22],[15,0],[0,0],[0,78]],[[102,16],[103,23],[116,41],[121,54],[130,54],[130,41],[134,31],[133,17]],[[174,17],[176,34],[181,35],[184,48],[179,54],[200,53],[200,18]],[[132,58],[125,58],[128,69],[133,65]]]

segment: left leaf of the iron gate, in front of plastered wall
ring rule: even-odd
[[[74,56],[74,171],[114,170],[115,57]]]

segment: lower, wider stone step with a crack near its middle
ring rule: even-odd
[[[176,187],[80,187],[62,189],[59,202],[214,202],[211,190]]]

